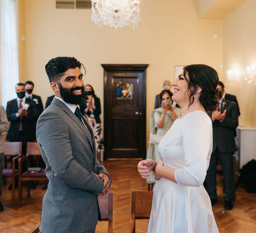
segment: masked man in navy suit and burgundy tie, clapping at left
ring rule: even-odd
[[[26,154],[27,142],[35,141],[34,121],[39,117],[39,111],[33,100],[25,96],[25,85],[15,85],[17,98],[7,102],[6,114],[11,122],[6,139],[8,141],[21,141],[22,154]],[[11,187],[9,187],[11,188]],[[31,188],[35,188],[33,185]]]

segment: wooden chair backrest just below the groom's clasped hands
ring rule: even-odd
[[[108,192],[103,196],[98,196],[101,219],[109,221],[113,219],[113,193]]]

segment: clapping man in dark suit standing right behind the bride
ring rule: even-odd
[[[220,94],[223,93],[222,86],[218,85]],[[219,159],[224,175],[224,192],[226,210],[233,208],[232,198],[235,193],[235,181],[233,171],[233,154],[237,150],[234,139],[234,129],[238,126],[238,114],[234,102],[223,99],[219,100],[219,108],[215,112],[209,112],[213,122],[213,149],[207,170],[205,185],[212,205],[217,201],[216,193],[216,165]]]

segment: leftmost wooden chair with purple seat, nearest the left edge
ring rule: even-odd
[[[3,168],[3,180],[12,181],[12,207],[15,206],[15,177],[18,178],[18,170],[15,169],[15,161],[21,157],[22,142],[5,142],[4,160],[6,164],[7,156],[12,158],[12,168]]]

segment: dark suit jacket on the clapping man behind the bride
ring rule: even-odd
[[[221,153],[229,153],[237,150],[234,129],[238,126],[238,114],[236,104],[234,102],[223,100],[221,113],[227,110],[226,116],[222,122],[215,120],[212,124],[213,133],[213,149],[212,152],[219,149]],[[212,112],[208,112],[211,117]]]

